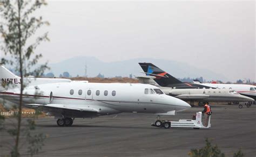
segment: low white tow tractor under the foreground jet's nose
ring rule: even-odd
[[[211,115],[208,119],[207,126],[202,123],[202,112],[197,112],[192,119],[180,119],[177,121],[159,120],[157,119],[151,126],[164,127],[165,129],[179,127],[179,128],[193,128],[193,129],[209,129],[211,127]]]

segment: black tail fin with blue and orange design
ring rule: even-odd
[[[156,79],[154,79],[154,81],[156,81],[160,86],[166,87],[169,84],[183,83],[152,63],[139,63],[139,65],[147,76],[155,76]]]

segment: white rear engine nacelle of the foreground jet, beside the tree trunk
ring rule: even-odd
[[[50,104],[53,93],[50,90],[25,89],[23,91],[23,102],[28,104]]]

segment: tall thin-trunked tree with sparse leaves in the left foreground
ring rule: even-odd
[[[48,33],[36,37],[34,39],[34,34],[38,28],[43,25],[49,25],[48,22],[44,21],[42,17],[35,17],[34,13],[36,10],[41,8],[41,6],[46,5],[43,0],[37,1],[24,1],[24,0],[0,0],[0,37],[3,42],[1,44],[1,50],[5,55],[10,55],[12,59],[6,60],[2,59],[1,62],[4,64],[9,64],[14,66],[17,73],[21,77],[21,84],[17,87],[20,88],[19,103],[18,103],[18,113],[17,126],[14,129],[8,129],[7,132],[15,137],[14,147],[11,150],[11,156],[19,156],[19,147],[21,146],[21,133],[25,133],[26,141],[29,143],[30,155],[37,153],[38,149],[35,146],[35,141],[38,141],[38,145],[43,136],[31,135],[30,131],[35,128],[35,123],[32,120],[28,122],[28,128],[22,129],[22,94],[23,89],[26,87],[24,82],[24,76],[42,75],[47,67],[47,63],[37,67],[35,70],[31,70],[35,66],[42,54],[35,54],[35,49],[42,41],[49,40]],[[29,40],[31,39],[32,40]],[[28,41],[29,40],[29,41]],[[32,42],[34,41],[34,42]],[[9,88],[10,84],[3,84],[5,89]],[[38,148],[38,147],[37,147]]]

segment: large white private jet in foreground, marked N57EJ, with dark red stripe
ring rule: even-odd
[[[16,84],[7,90],[2,87],[0,98],[18,103],[21,78],[0,66],[0,79],[2,85]],[[92,118],[122,112],[175,115],[176,111],[191,107],[149,84],[89,83],[67,79],[25,80],[31,81],[31,84],[24,89],[24,105],[33,109],[41,107],[44,112],[58,119],[59,126],[71,126],[75,118]]]

